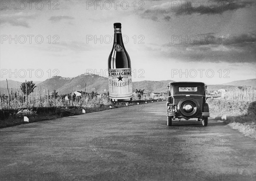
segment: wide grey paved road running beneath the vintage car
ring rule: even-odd
[[[159,102],[0,129],[0,180],[255,180],[252,138],[173,124]]]

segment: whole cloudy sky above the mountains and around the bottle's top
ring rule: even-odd
[[[116,22],[134,81],[218,84],[256,76],[255,1],[0,2],[1,80],[107,76]]]

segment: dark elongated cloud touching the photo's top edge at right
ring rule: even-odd
[[[192,15],[192,14],[222,14],[225,11],[233,11],[241,8],[246,8],[254,5],[254,1],[189,1],[189,0],[174,0],[162,3],[160,5],[151,6],[145,10],[142,18],[158,20],[156,17],[163,17],[163,20],[169,21],[172,15]],[[152,18],[154,17],[154,18]]]

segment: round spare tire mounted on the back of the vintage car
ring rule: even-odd
[[[193,118],[193,116],[197,115],[200,106],[198,101],[195,99],[186,98],[178,103],[177,108],[180,115],[182,115],[184,118]]]

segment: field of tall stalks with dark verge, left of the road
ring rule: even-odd
[[[25,123],[24,116],[29,118],[29,122],[44,121],[54,118],[61,118],[71,115],[82,114],[82,110],[86,113],[102,111],[106,109],[115,109],[123,106],[131,106],[135,104],[151,103],[155,101],[163,101],[165,95],[134,95],[133,100],[129,103],[111,103],[108,94],[101,93],[75,96],[44,94],[43,96],[32,97],[20,95],[19,93],[10,94],[9,96],[1,95],[0,110],[0,128],[7,126],[15,126]]]

